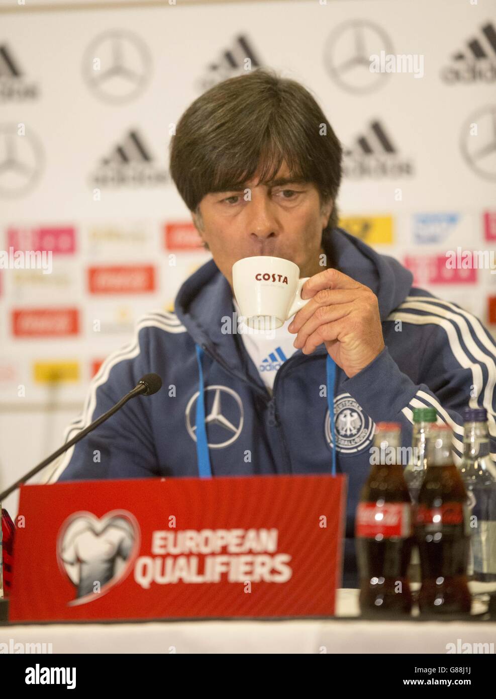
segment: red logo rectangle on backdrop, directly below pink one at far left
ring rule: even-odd
[[[22,308],[12,312],[13,335],[20,338],[52,338],[77,335],[77,308]]]

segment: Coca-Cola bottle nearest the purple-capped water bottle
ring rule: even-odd
[[[433,425],[415,515],[421,558],[421,614],[469,614],[467,493],[451,454],[448,425]]]

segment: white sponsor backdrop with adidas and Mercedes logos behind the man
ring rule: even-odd
[[[53,252],[50,274],[0,270],[0,489],[61,443],[99,361],[143,312],[171,310],[208,259],[167,147],[191,101],[246,57],[321,104],[347,150],[347,229],[495,331],[496,275],[444,264],[458,246],[495,250],[493,0],[0,7],[0,19],[0,250]],[[381,50],[422,60],[423,76],[371,73]]]

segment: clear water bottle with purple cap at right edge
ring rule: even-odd
[[[465,408],[460,475],[470,507],[468,574],[479,582],[496,582],[496,466],[490,456],[485,408]]]

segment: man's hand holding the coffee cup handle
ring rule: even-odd
[[[337,269],[326,269],[303,284],[300,308],[289,326],[293,345],[312,354],[324,343],[347,377],[358,374],[384,349],[377,296]]]

